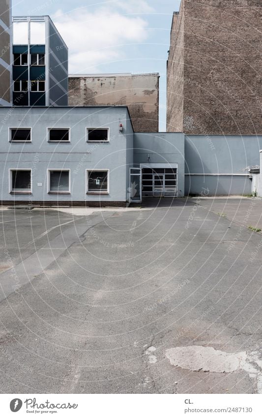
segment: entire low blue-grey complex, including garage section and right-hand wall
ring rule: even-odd
[[[126,106],[1,107],[0,134],[2,204],[250,194],[262,149],[255,135],[134,132]]]

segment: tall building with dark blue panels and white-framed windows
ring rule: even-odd
[[[67,106],[68,48],[49,16],[13,17],[13,105]]]

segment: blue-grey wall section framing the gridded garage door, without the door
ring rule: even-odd
[[[149,154],[149,160],[148,160]],[[183,133],[135,133],[134,163],[177,163],[177,197],[184,196],[184,134]]]

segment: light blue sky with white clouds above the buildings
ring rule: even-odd
[[[69,48],[69,73],[159,72],[166,130],[166,63],[180,0],[12,0],[13,16],[49,15]]]

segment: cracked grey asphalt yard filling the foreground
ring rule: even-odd
[[[2,393],[262,390],[261,200],[155,203],[2,210]],[[170,361],[192,346],[255,371]]]

